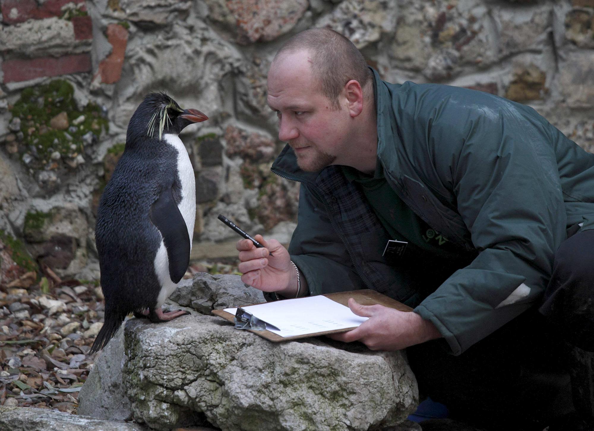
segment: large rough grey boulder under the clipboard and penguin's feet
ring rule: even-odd
[[[402,423],[418,401],[402,352],[326,339],[271,343],[214,316],[131,319],[122,381],[132,414],[158,430],[368,430]]]

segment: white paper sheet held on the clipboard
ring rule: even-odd
[[[266,329],[281,337],[358,327],[368,319],[321,295],[249,305],[242,309],[266,322]],[[226,308],[225,311],[235,316],[237,309]]]

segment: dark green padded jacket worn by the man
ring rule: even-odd
[[[271,169],[301,182],[289,253],[311,294],[384,286],[460,354],[536,305],[560,243],[594,228],[594,154],[528,106],[448,85],[390,84],[376,71],[374,77],[377,157],[387,182],[476,258],[419,297],[381,261],[379,230],[348,229],[352,208],[336,195],[347,182],[328,186],[324,179],[330,171],[336,178],[336,166],[304,172],[287,145]],[[348,205],[361,204],[357,199]]]

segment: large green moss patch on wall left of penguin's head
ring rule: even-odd
[[[50,120],[61,112],[66,112],[68,123],[73,131],[50,128]],[[107,119],[101,115],[97,104],[89,103],[79,110],[74,100],[74,87],[68,81],[55,80],[45,85],[28,87],[11,109],[12,118],[21,120],[24,147],[34,147],[37,158],[28,165],[42,169],[50,160],[50,155],[58,151],[62,157],[75,157],[83,151],[83,135],[89,131],[97,137],[108,131]],[[84,121],[74,125],[72,121],[84,115]],[[71,145],[75,145],[72,149]]]

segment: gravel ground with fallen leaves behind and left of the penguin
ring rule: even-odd
[[[198,262],[196,272],[239,274],[235,259]],[[78,391],[98,353],[89,355],[103,326],[99,283],[61,280],[49,268],[0,286],[0,405],[76,413]]]

